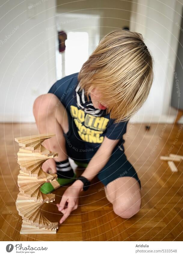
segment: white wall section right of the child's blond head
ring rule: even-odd
[[[135,3],[136,2],[136,3]],[[183,2],[183,1],[182,1]],[[138,0],[132,5],[130,30],[142,33],[154,58],[155,78],[150,95],[133,120],[173,122],[170,98],[181,23],[182,3],[176,0]]]

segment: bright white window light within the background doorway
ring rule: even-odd
[[[66,40],[65,72],[66,76],[79,72],[88,58],[88,33],[69,32]],[[64,65],[64,63],[63,63]]]

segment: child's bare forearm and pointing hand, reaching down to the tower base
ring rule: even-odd
[[[105,166],[111,157],[111,153],[119,140],[110,140],[104,137],[104,141],[90,160],[87,168],[84,170],[82,176],[88,180],[92,180],[99,171]],[[63,217],[60,219],[60,223],[70,215],[70,213],[78,207],[78,196],[83,190],[83,182],[76,180],[69,188],[64,192],[60,204],[57,204],[58,210],[63,213]]]

